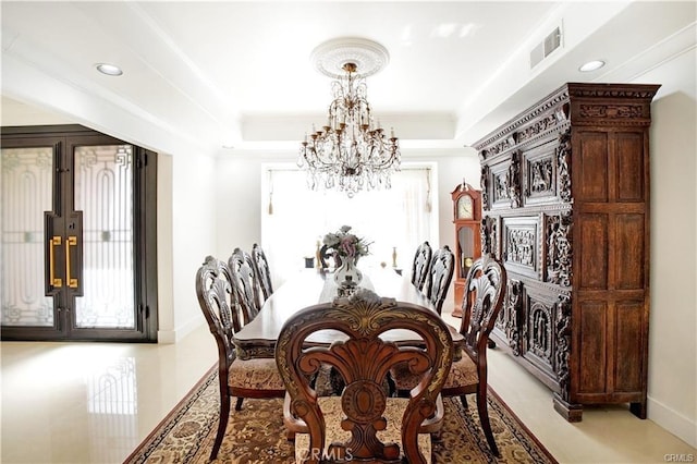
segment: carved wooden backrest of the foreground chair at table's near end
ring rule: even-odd
[[[319,330],[339,330],[348,338],[331,346],[307,347],[305,341]],[[424,347],[399,346],[380,334],[391,329],[408,329],[424,340]],[[360,289],[348,298],[302,309],[281,329],[276,361],[286,386],[290,410],[306,425],[309,434],[309,463],[320,457],[355,461],[424,463],[417,445],[419,426],[437,410],[437,399],[448,377],[453,357],[452,338],[442,319],[432,310],[393,298],[381,298]],[[408,363],[420,383],[411,391],[401,423],[402,450],[396,443],[383,443],[376,436],[387,426],[383,416],[388,392],[382,382],[390,368]],[[341,408],[343,430],[351,432],[345,442],[326,445],[325,416],[310,378],[322,364],[330,365],[345,383]],[[318,452],[317,450],[320,450]],[[325,462],[325,461],[321,461]]]

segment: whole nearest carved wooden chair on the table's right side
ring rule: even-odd
[[[477,394],[481,429],[489,449],[497,456],[499,448],[491,430],[487,404],[487,345],[503,306],[505,285],[505,268],[493,256],[484,255],[474,261],[467,273],[462,301],[460,332],[465,339],[463,355],[453,362],[442,389],[443,396],[460,396],[464,407],[467,407],[465,395]],[[406,394],[418,381],[404,365],[396,366],[391,375],[396,384],[398,395]]]

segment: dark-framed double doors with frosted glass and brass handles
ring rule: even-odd
[[[63,129],[3,130],[0,334],[155,341],[156,154]]]

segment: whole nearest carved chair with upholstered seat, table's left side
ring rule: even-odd
[[[244,317],[240,308],[230,303],[232,277],[224,261],[206,257],[196,273],[196,295],[218,345],[220,412],[210,453],[210,460],[215,460],[228,428],[231,396],[237,398],[235,410],[240,411],[244,398],[283,398],[285,387],[273,358],[242,361],[235,355],[232,337],[244,325]]]

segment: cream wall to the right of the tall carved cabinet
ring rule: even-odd
[[[695,50],[645,74],[651,106],[648,416],[697,447],[697,96]]]

